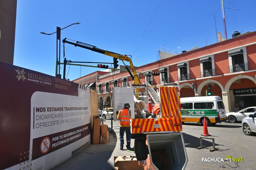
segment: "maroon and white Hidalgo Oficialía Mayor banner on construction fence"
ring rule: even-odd
[[[0,170],[51,169],[90,143],[90,89],[0,62]]]

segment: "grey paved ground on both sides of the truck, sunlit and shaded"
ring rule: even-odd
[[[111,130],[111,120],[106,120]],[[110,133],[107,144],[90,144],[83,151],[57,166],[58,169],[113,169],[114,156],[129,156],[132,153],[119,149],[119,122],[113,121],[113,130],[116,135]],[[204,149],[197,149],[200,146],[200,136],[203,133],[203,126],[198,123],[183,124],[183,138],[188,154],[186,169],[256,169],[256,135],[246,136],[242,131],[241,123],[217,123],[208,126],[208,132],[215,138],[215,147],[221,150],[210,152],[212,149],[211,140],[203,140]],[[125,139],[126,140],[126,139]],[[134,139],[131,140],[134,146]],[[125,149],[125,148],[124,148]],[[202,158],[243,158],[243,162],[235,164],[232,162],[202,162]],[[230,168],[231,167],[236,168]],[[221,168],[224,165],[226,168]],[[238,166],[237,166],[238,165]]]

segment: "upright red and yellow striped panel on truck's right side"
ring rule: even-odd
[[[160,112],[162,118],[181,116],[180,112],[180,98],[178,95],[179,89],[177,87],[160,87]]]

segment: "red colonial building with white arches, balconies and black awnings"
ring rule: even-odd
[[[137,72],[159,72],[159,76],[138,73],[141,83],[151,85],[179,84],[181,97],[220,96],[227,112],[256,105],[256,31],[245,32],[228,40],[173,55],[159,51],[164,59],[142,65]],[[73,80],[90,86],[95,82],[99,108],[112,106],[112,87],[131,86],[128,72],[94,72]],[[192,90],[191,83],[195,89]],[[91,85],[92,86],[92,85]]]

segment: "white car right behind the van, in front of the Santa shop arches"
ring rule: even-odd
[[[253,114],[256,111],[256,107],[247,107],[239,111],[226,113],[227,120],[230,123],[236,123],[237,121],[242,121],[243,118]]]

